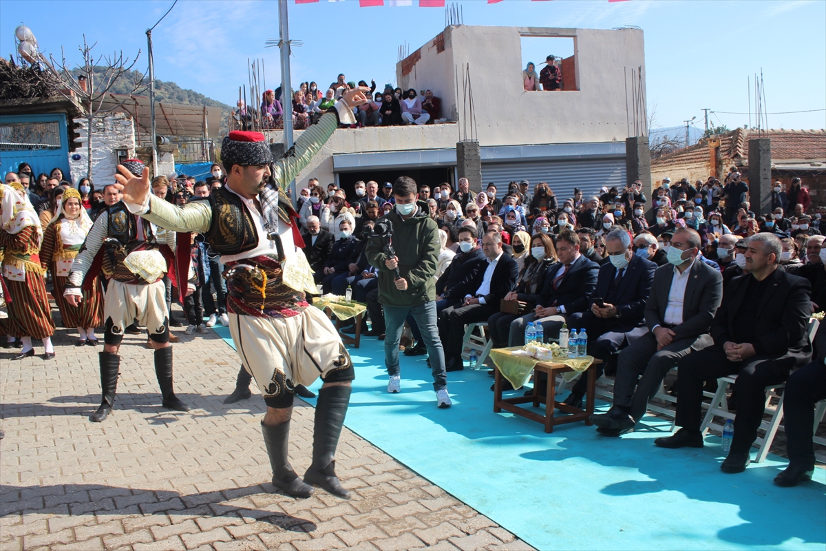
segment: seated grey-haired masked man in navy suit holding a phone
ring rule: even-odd
[[[605,254],[610,260],[600,267],[591,310],[571,319],[572,328],[587,330],[588,354],[602,360],[596,366],[597,378],[611,354],[648,332],[643,316],[657,269],[657,264],[634,254],[634,244],[625,230],[611,230],[605,236]],[[586,384],[586,378],[580,377],[565,400],[568,406],[582,406]]]

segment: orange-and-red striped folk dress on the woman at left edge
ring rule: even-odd
[[[4,278],[8,296],[8,334],[15,337],[43,339],[55,333],[49,298],[43,280],[43,268],[38,257],[40,240],[36,226],[26,226],[17,234],[0,230],[0,247],[5,249],[3,268],[25,271],[25,281]]]

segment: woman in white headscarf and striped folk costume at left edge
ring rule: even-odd
[[[26,193],[0,185],[0,247],[5,249],[2,283],[8,307],[8,330],[23,342],[21,353],[14,359],[35,355],[32,338],[43,341],[44,359],[55,357],[51,344],[55,322],[51,319],[44,269],[38,256],[42,240],[40,219]]]

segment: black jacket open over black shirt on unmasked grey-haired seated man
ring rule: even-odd
[[[743,304],[749,278],[747,273],[733,278],[725,289],[723,302],[711,324],[714,344],[723,346],[726,342],[739,342],[734,335],[733,320]],[[809,362],[812,349],[809,344],[807,325],[811,313],[809,297],[812,286],[809,280],[799,278],[776,269],[771,275],[771,287],[763,297],[754,331],[757,342],[752,343],[758,355],[769,358],[794,358],[796,367]]]

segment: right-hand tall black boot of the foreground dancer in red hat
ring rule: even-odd
[[[316,405],[316,427],[312,438],[312,464],[304,473],[304,482],[324,488],[334,496],[349,499],[335,476],[335,448],[339,444],[341,427],[350,401],[351,388],[321,387]]]

